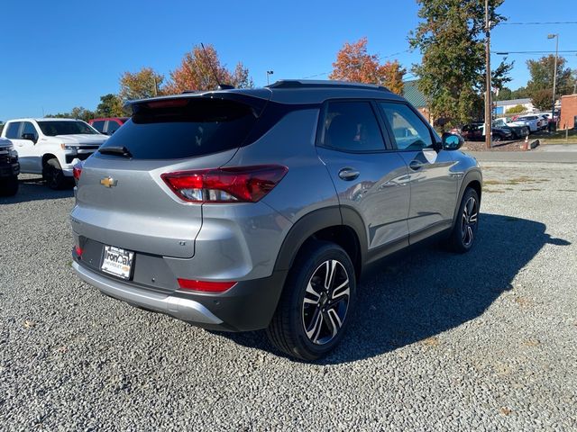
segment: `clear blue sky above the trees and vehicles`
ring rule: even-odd
[[[481,0],[480,0],[481,1]],[[151,66],[165,74],[202,42],[215,45],[222,61],[242,60],[256,85],[274,78],[325,78],[345,41],[369,38],[369,50],[385,58],[408,49],[418,23],[417,3],[398,1],[58,2],[3,0],[1,16],[0,120],[95,109],[102,94],[118,91],[126,70]],[[212,5],[215,4],[215,5]],[[510,22],[577,21],[575,0],[506,0],[499,12]],[[507,25],[493,31],[492,49],[577,49],[577,25]],[[535,56],[539,57],[539,56]],[[391,57],[410,68],[418,52]],[[499,60],[493,56],[493,62]],[[525,61],[516,64],[511,88],[527,83]],[[577,68],[577,55],[567,54]]]

